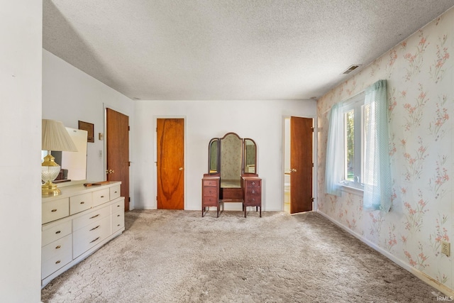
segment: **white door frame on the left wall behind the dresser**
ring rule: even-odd
[[[134,160],[133,160],[133,153],[131,153],[131,146],[132,146],[132,143],[133,143],[133,126],[131,126],[131,114],[129,114],[127,111],[124,111],[123,109],[118,109],[118,107],[116,106],[111,106],[110,104],[106,104],[103,102],[103,133],[102,133],[102,145],[103,145],[103,162],[104,162],[104,170],[103,170],[103,174],[104,174],[104,179],[106,179],[106,170],[107,170],[107,141],[106,141],[106,133],[107,133],[107,109],[112,109],[114,111],[117,111],[118,113],[120,114],[123,114],[125,116],[128,116],[128,120],[129,120],[129,132],[128,132],[128,136],[129,136],[129,144],[128,144],[128,154],[129,154],[129,199],[131,200],[129,202],[129,210],[132,211],[133,209],[135,209],[135,205],[134,205],[134,202],[135,202],[135,199],[134,199],[134,191],[132,190],[133,189],[133,184],[134,184],[134,174],[133,174],[133,167],[134,167]],[[96,137],[96,133],[94,134],[94,136]],[[105,180],[104,180],[105,181]]]

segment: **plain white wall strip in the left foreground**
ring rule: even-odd
[[[42,4],[0,7],[0,302],[40,302]]]

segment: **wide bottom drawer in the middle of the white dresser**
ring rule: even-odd
[[[108,207],[110,211],[110,207]],[[111,216],[105,216],[92,224],[84,226],[72,234],[72,254],[74,258],[82,255],[96,244],[111,235]]]

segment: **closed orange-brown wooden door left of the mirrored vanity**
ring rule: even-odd
[[[184,119],[157,119],[157,209],[184,209]]]

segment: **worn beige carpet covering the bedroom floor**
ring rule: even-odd
[[[316,212],[130,211],[43,302],[436,302],[433,287]]]

